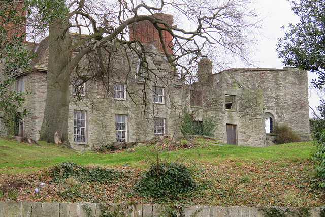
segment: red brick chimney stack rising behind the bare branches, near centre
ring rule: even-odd
[[[173,15],[169,14],[154,14],[154,17],[157,19],[161,19],[166,21],[168,24],[173,25],[174,17]],[[163,24],[158,24],[161,27],[164,27]],[[144,42],[150,42],[152,43],[156,48],[159,47],[161,52],[164,52],[163,46],[160,43],[159,40],[159,33],[158,30],[155,29],[153,24],[149,22],[148,20],[145,21],[139,21],[134,24],[132,24],[129,27],[130,30],[130,40],[140,40],[142,43]],[[172,35],[168,33],[167,31],[163,31],[163,40],[166,45],[167,52],[169,54],[173,54],[173,42],[172,42]]]

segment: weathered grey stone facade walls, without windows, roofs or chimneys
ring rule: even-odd
[[[164,63],[168,67],[167,63]],[[235,126],[237,145],[267,146],[265,114],[274,117],[274,125],[288,125],[295,132],[309,139],[309,117],[307,96],[307,73],[295,68],[284,69],[230,69],[208,75],[209,82],[193,85],[182,84],[175,79],[164,83],[145,84],[134,74],[127,80],[125,99],[115,99],[114,90],[107,92],[96,82],[87,82],[85,96],[78,101],[71,94],[69,135],[72,147],[89,149],[92,146],[115,141],[115,115],[126,117],[126,141],[144,141],[154,136],[154,118],[165,121],[165,135],[181,135],[178,124],[182,111],[187,107],[197,120],[203,115],[213,117],[217,123],[214,136],[227,143],[226,126]],[[115,82],[125,82],[123,77]],[[24,76],[25,89],[31,92],[26,96],[26,108],[30,111],[24,119],[24,135],[39,138],[43,111],[46,101],[46,73],[33,72]],[[153,103],[152,87],[163,88],[162,103]],[[113,88],[113,84],[111,84]],[[143,104],[144,88],[147,90],[147,105]],[[73,87],[71,87],[71,92]],[[201,105],[192,105],[190,91],[200,92]],[[232,96],[232,109],[226,109],[226,96]],[[146,111],[144,111],[146,106]],[[85,112],[85,142],[74,142],[74,111]]]

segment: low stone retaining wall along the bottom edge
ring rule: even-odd
[[[281,216],[307,216],[303,210],[299,208],[286,207],[220,207],[220,206],[189,206],[183,209],[182,214],[185,217],[252,217],[252,216],[268,216],[266,210],[272,208],[277,212],[282,212]],[[86,211],[87,210],[87,211]],[[151,205],[151,204],[119,204],[109,203],[106,207],[96,203],[79,202],[79,203],[42,203],[42,202],[14,202],[0,201],[0,217],[100,217],[102,211],[106,213],[104,216],[142,216],[142,217],[158,217],[169,216],[170,206]],[[306,211],[306,210],[304,210]],[[309,214],[311,217],[320,216],[320,208],[311,208]],[[119,215],[118,215],[119,214]],[[323,213],[324,214],[324,213]],[[280,216],[280,215],[277,215]]]

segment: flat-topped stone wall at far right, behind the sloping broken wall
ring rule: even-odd
[[[293,67],[280,69],[230,70],[244,88],[263,92],[265,113],[271,113],[275,125],[288,125],[301,134],[309,132],[307,71]],[[308,139],[308,136],[305,137]]]

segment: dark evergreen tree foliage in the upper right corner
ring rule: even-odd
[[[285,65],[316,72],[314,83],[320,88],[325,84],[325,0],[293,1],[292,9],[300,22],[290,23],[285,37],[279,39],[279,57]]]

